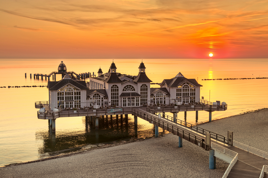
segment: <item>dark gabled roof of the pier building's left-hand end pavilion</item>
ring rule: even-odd
[[[59,90],[67,84],[71,84],[81,90],[88,90],[85,81],[74,81],[72,79],[62,79],[60,81],[48,81],[47,86],[49,90]]]

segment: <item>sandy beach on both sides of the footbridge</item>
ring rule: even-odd
[[[266,132],[268,109],[231,116],[199,125],[234,140],[268,152]],[[71,156],[70,156],[71,155]],[[54,159],[56,158],[56,159]],[[1,177],[222,177],[228,163],[216,159],[216,169],[209,169],[209,152],[178,137],[126,141],[84,149],[28,164],[0,168]]]

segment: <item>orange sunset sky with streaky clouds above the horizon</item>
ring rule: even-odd
[[[268,1],[0,0],[0,58],[268,58]]]

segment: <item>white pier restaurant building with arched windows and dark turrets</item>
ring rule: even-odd
[[[62,64],[61,64],[62,65]],[[195,79],[187,79],[178,73],[164,79],[159,88],[150,88],[152,82],[146,75],[144,63],[140,63],[139,74],[130,76],[116,72],[111,64],[107,73],[98,70],[89,81],[69,74],[60,81],[48,81],[49,106],[54,108],[106,108],[190,104],[200,101],[200,87]]]

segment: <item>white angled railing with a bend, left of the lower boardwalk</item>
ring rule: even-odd
[[[233,158],[228,168],[226,169],[224,175],[222,176],[222,178],[226,178],[230,173],[231,169],[233,168],[233,166],[235,165],[236,161],[238,160],[238,153],[229,150],[227,148],[221,147],[220,145],[217,145],[215,143],[211,143],[211,148]]]

